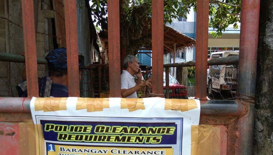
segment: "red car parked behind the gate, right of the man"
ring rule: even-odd
[[[163,93],[166,93],[166,73],[163,73],[163,86],[164,86],[164,90]],[[169,74],[169,98],[185,98],[187,99],[187,95],[188,95],[188,90],[186,86],[183,86],[181,84],[179,84],[179,82],[174,78],[174,76],[172,76],[171,74]]]

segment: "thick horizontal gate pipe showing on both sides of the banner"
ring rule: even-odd
[[[243,104],[235,100],[207,100],[201,104],[201,116],[241,116]],[[30,113],[29,98],[0,98],[0,113]]]

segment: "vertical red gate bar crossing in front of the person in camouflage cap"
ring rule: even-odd
[[[80,97],[78,33],[76,1],[66,0],[64,3],[66,23],[66,49],[69,96]]]

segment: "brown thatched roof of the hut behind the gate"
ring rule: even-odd
[[[149,29],[148,31],[151,31],[151,29]],[[108,49],[108,32],[100,32],[99,38],[104,48]],[[174,46],[175,51],[180,51],[185,48],[192,48],[193,46],[195,46],[195,40],[185,34],[174,30],[173,28],[164,26],[164,54],[174,52]],[[143,45],[143,47],[145,47],[145,49],[147,50],[151,50],[151,40],[147,42],[146,45]],[[141,49],[141,47],[139,47],[139,49]]]

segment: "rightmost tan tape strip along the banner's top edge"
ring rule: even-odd
[[[195,100],[191,99],[165,99],[165,110],[189,111],[197,108]]]

